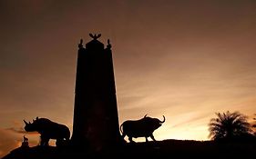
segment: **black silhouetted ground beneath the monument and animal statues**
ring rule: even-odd
[[[62,159],[62,158],[256,158],[256,141],[212,142],[164,140],[125,144],[105,152],[88,154],[85,150],[70,150],[54,146],[20,147],[2,159]]]

